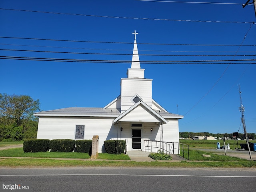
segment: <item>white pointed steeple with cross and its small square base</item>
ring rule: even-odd
[[[144,70],[140,68],[140,58],[138,53],[138,47],[136,42],[136,30],[134,30],[134,46],[132,52],[132,66],[127,70],[127,77],[128,78],[144,78]]]

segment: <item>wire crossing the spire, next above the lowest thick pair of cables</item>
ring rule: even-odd
[[[96,55],[125,55],[131,56],[132,54],[123,53],[92,53],[92,52],[63,52],[63,51],[40,51],[40,50],[19,50],[19,49],[0,49],[4,51],[21,51],[21,52],[43,52],[43,53],[65,53],[65,54],[96,54]],[[197,57],[210,57],[210,56],[255,56],[255,55],[163,55],[163,54],[140,54],[140,56],[197,56]]]

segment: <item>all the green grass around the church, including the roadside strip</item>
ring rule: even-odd
[[[185,140],[181,142],[184,143]],[[186,144],[190,143],[195,144],[194,146],[202,146],[211,148],[214,147],[214,141],[201,141],[201,140],[188,140]],[[7,143],[5,143],[7,144]],[[22,144],[22,142],[14,143],[10,142],[7,145],[13,144]],[[0,142],[0,146],[2,142]],[[204,146],[204,147],[203,147]],[[240,158],[217,155],[208,152],[194,150],[196,147],[190,147],[190,162],[181,161],[181,162],[134,162],[134,161],[114,161],[114,160],[130,160],[129,156],[125,154],[99,154],[98,159],[102,161],[91,161],[91,160],[76,160],[76,159],[89,159],[90,156],[87,153],[78,153],[78,152],[37,152],[37,153],[24,153],[23,148],[10,148],[6,150],[0,150],[0,156],[3,158],[0,159],[0,166],[42,166],[42,167],[65,167],[65,166],[116,166],[116,167],[223,167],[223,168],[256,168],[256,161],[249,161]],[[202,154],[209,154],[211,157],[203,157]],[[181,154],[182,155],[182,154]],[[28,158],[4,158],[4,157],[31,157]],[[184,154],[186,157],[186,153]],[[40,159],[33,159],[40,158]],[[56,160],[50,158],[72,158],[74,160]],[[201,160],[203,162],[195,162],[196,160]]]

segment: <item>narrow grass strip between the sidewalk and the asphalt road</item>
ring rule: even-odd
[[[0,159],[0,166],[8,167],[222,167],[222,168],[256,168],[255,161],[240,162],[120,162],[112,160],[86,161],[86,160],[53,160],[53,159]]]

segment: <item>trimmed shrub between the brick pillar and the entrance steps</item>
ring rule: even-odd
[[[124,140],[106,140],[104,147],[107,153],[121,154],[124,153],[125,141]]]

